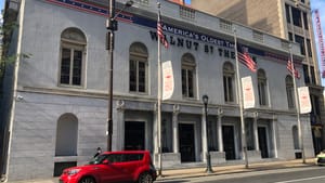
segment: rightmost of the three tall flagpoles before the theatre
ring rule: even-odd
[[[291,61],[291,76],[294,78],[295,103],[296,103],[297,120],[298,120],[299,148],[301,148],[302,164],[306,164],[304,147],[303,147],[303,133],[302,133],[301,120],[300,120],[300,106],[298,103],[298,92],[297,92],[297,84],[296,84],[296,68],[294,65],[291,44],[289,44],[289,53],[290,53],[290,61]]]

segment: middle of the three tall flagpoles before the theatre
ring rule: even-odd
[[[242,89],[242,82],[240,82],[240,73],[239,73],[236,29],[234,29],[234,38],[235,38],[235,55],[236,55],[236,75],[237,75],[237,83],[238,83],[237,84],[237,93],[238,93],[240,125],[242,125],[242,152],[243,152],[244,158],[245,158],[245,168],[248,168],[248,156],[247,156],[247,146],[246,146],[243,97],[242,97],[242,90],[240,90]]]

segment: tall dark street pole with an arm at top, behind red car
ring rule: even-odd
[[[116,17],[127,8],[131,6],[133,1],[127,1],[125,6],[115,14],[115,0],[108,0],[108,17],[106,19],[106,50],[109,53],[108,67],[108,117],[107,117],[107,152],[112,152],[112,135],[113,135],[113,60],[114,60],[114,31],[117,30]]]

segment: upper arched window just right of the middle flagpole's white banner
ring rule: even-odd
[[[257,75],[258,75],[259,102],[261,106],[266,106],[268,105],[266,75],[263,69],[259,69]]]

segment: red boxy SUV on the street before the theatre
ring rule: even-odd
[[[60,183],[152,183],[156,178],[150,152],[105,152],[89,165],[63,170]]]

